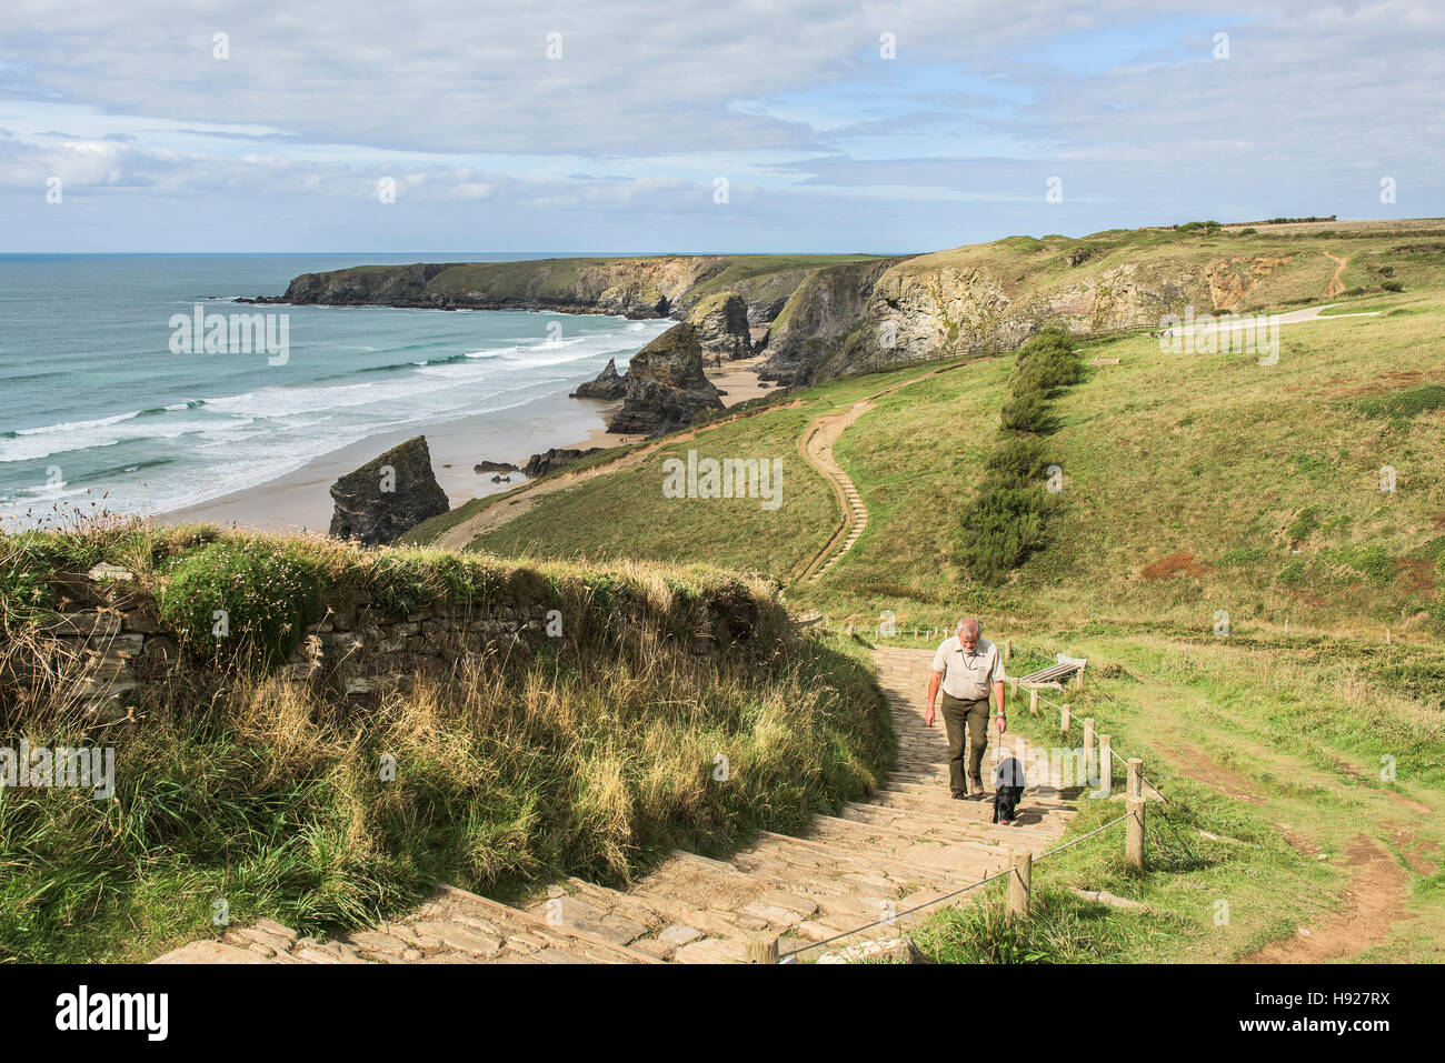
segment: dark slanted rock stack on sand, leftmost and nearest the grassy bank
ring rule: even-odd
[[[407,439],[331,485],[331,534],[366,546],[396,542],[428,517],[447,513],[426,436]]]

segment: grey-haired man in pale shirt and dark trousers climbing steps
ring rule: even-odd
[[[933,654],[923,724],[933,726],[933,699],[944,687],[944,725],[948,729],[948,784],[954,797],[983,797],[984,750],[988,748],[988,687],[998,702],[998,734],[1009,724],[1003,709],[1003,654],[983,637],[978,621],[958,621],[958,635]],[[968,739],[968,777],[964,777],[964,738]]]

